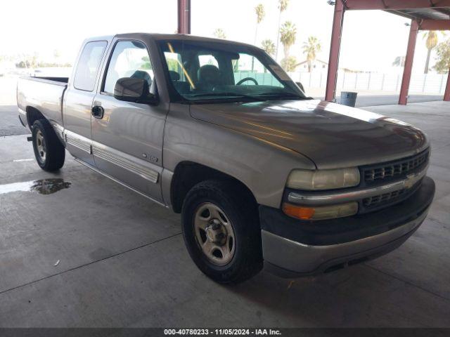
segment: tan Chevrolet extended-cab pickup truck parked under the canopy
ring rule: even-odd
[[[68,150],[181,213],[188,253],[216,282],[383,255],[418,229],[435,194],[422,131],[309,98],[248,44],[87,39],[70,78],[20,79],[17,97],[41,169],[60,169]]]

